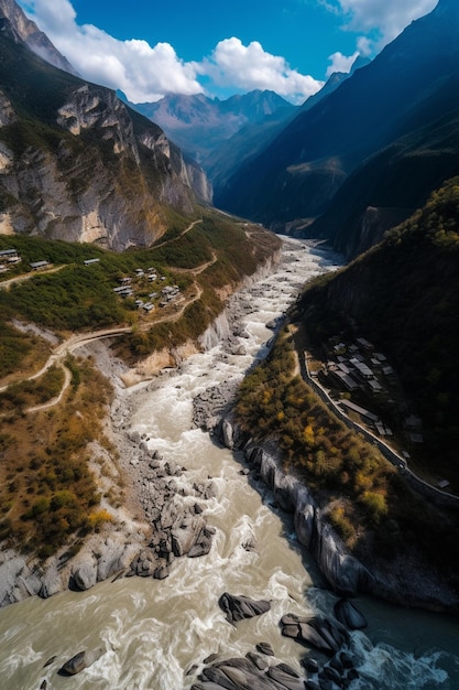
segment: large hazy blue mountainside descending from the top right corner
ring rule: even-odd
[[[327,211],[347,177],[369,157],[431,127],[456,108],[458,63],[459,6],[440,0],[371,64],[300,111],[216,192],[216,205],[274,229],[307,226]],[[394,202],[395,207],[406,204]]]

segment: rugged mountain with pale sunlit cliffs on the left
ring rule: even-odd
[[[209,194],[196,163],[116,94],[0,32],[0,231],[151,245]]]

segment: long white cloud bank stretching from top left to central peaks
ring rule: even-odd
[[[284,57],[266,53],[258,42],[220,41],[209,57],[184,62],[168,43],[119,41],[91,24],[79,25],[70,0],[20,0],[54,45],[86,79],[119,88],[133,103],[165,94],[199,94],[212,85],[226,91],[272,89],[303,103],[321,82],[291,69]]]

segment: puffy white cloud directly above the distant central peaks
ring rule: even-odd
[[[234,36],[220,41],[197,71],[218,86],[230,84],[244,90],[272,89],[295,103],[303,103],[324,85],[292,69],[284,57],[266,53],[258,41],[243,45]]]

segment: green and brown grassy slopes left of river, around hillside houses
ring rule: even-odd
[[[196,280],[201,298],[181,319],[156,326],[152,323],[150,331],[124,338],[120,352],[133,362],[156,347],[200,335],[223,308],[219,291],[234,289],[280,246],[275,236],[211,211],[204,212],[203,222],[182,236],[185,229],[186,225],[177,222],[156,249],[121,255],[88,245],[0,236],[0,249],[17,248],[23,259],[3,279],[24,272],[29,261],[41,258],[62,267],[0,290],[0,386],[19,381],[24,367],[29,373],[39,370],[50,349],[41,338],[15,328],[13,319],[46,326],[62,336],[70,331],[135,324],[142,317],[132,300],[123,301],[112,291],[118,278],[132,276],[136,268],[154,267],[166,277],[161,287],[176,282],[184,293]],[[85,267],[88,258],[100,261]],[[211,262],[208,269],[195,277],[193,270],[207,261]],[[181,272],[175,273],[175,268]],[[142,323],[149,325],[145,320]],[[70,536],[77,543],[78,535],[83,537],[107,517],[98,507],[100,496],[88,470],[86,449],[95,439],[107,445],[97,420],[103,416],[110,390],[87,364],[72,360],[68,366],[73,385],[56,408],[24,413],[31,405],[56,395],[61,369],[51,369],[36,381],[11,385],[0,393],[0,538],[41,556],[53,552]],[[113,449],[110,453],[116,455]]]

